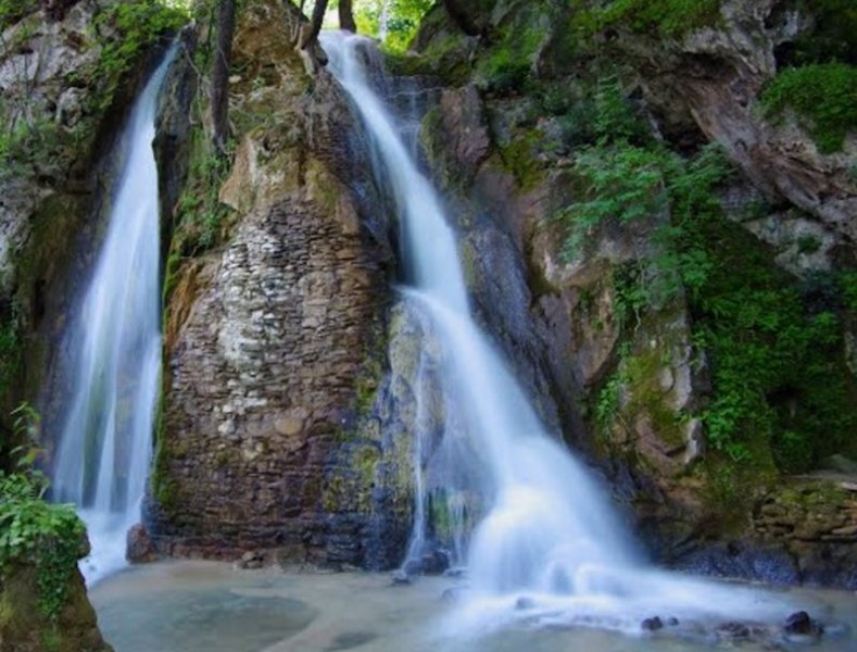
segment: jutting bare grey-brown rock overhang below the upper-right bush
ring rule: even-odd
[[[693,120],[706,137],[728,149],[759,191],[809,213],[830,237],[853,247],[857,186],[847,161],[857,146],[854,138],[844,152],[823,154],[793,122],[769,124],[755,105],[777,72],[777,48],[793,40],[808,21],[811,15],[789,3],[726,1],[716,27],[667,43],[632,35],[621,35],[617,42],[638,64],[652,106]]]

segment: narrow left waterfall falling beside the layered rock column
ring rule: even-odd
[[[157,167],[152,140],[159,91],[174,46],[137,99],[123,135],[108,230],[83,302],[65,335],[70,387],[52,496],[87,524],[88,582],[125,564],[125,537],[140,521],[161,368]]]

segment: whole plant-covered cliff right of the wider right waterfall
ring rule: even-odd
[[[855,454],[854,108],[831,150],[765,104],[826,9],[489,4],[394,62],[448,85],[423,140],[484,211],[487,325],[663,561],[854,586],[854,478],[793,475]]]

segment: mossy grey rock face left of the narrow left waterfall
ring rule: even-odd
[[[152,34],[154,47],[140,40],[127,67],[105,70],[104,52],[123,35],[113,24],[97,34],[93,24],[111,5],[51,3],[50,18],[30,12],[3,33],[0,330],[16,343],[2,352],[0,428],[20,401],[36,403],[55,383],[46,376],[110,203],[111,153],[130,98],[163,52]],[[39,409],[50,425],[54,405]]]

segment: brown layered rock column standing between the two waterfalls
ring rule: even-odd
[[[241,14],[248,117],[219,188],[236,226],[176,274],[149,509],[172,554],[361,564],[380,544],[383,451],[355,397],[380,373],[391,256],[354,191],[368,165],[346,104],[293,49],[300,21],[273,0]]]

